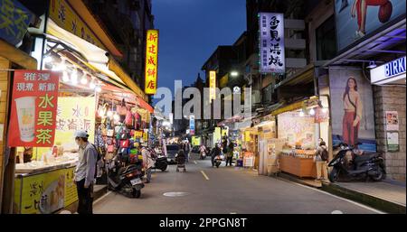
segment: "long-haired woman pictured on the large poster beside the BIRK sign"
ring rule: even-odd
[[[344,101],[343,119],[343,141],[345,144],[355,146],[358,140],[360,121],[362,120],[362,99],[357,92],[357,82],[354,77],[346,81],[345,93],[342,97]]]

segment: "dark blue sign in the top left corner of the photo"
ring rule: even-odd
[[[14,0],[0,0],[0,38],[17,45],[24,38],[34,15]]]

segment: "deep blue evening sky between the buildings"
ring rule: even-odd
[[[153,0],[160,31],[158,87],[194,83],[219,45],[232,45],[246,30],[245,0]],[[201,72],[204,79],[204,72]]]

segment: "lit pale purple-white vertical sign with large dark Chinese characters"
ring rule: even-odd
[[[260,72],[284,73],[284,14],[260,13]]]

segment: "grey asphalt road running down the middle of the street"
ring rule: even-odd
[[[97,214],[378,212],[321,190],[224,167],[224,162],[219,169],[212,168],[210,158],[190,161],[186,169],[187,172],[175,172],[175,165],[170,165],[166,172],[153,172],[152,181],[146,184],[140,199],[109,192],[95,202],[93,211]],[[181,192],[181,196],[165,196],[168,192]]]

